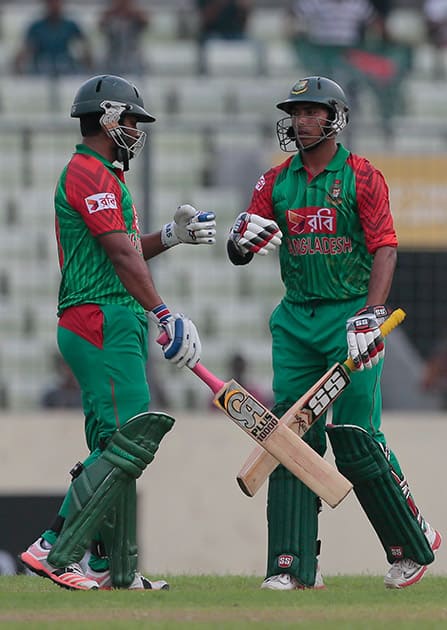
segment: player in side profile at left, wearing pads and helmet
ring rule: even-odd
[[[72,469],[56,519],[21,560],[69,589],[167,589],[137,571],[136,479],[174,423],[148,411],[148,316],[167,334],[163,353],[178,367],[193,367],[201,344],[194,323],[163,302],[145,261],[179,243],[213,244],[215,216],[182,205],[161,231],[140,234],[124,172],[146,138],[138,124],[155,118],[132,83],[90,78],[71,116],[79,118],[82,143],[55,192],[57,339],[81,386],[90,455]]]

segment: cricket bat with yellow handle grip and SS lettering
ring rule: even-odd
[[[398,308],[382,324],[385,337],[405,319],[405,312]],[[344,363],[336,363],[282,416],[281,424],[292,428],[300,437],[318,420],[350,383],[349,374],[355,369],[349,357]],[[264,449],[256,447],[237,475],[237,482],[247,496],[253,497],[275,470],[278,461]]]

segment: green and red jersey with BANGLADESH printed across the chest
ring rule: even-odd
[[[375,251],[397,247],[382,173],[341,144],[315,177],[299,153],[271,168],[247,212],[278,223],[281,277],[293,302],[366,295]]]

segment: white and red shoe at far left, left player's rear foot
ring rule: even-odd
[[[42,538],[39,538],[20,554],[20,560],[30,571],[50,579],[62,588],[74,591],[98,590],[98,583],[86,577],[78,563],[58,569],[47,561],[49,553],[50,549],[45,549],[42,546]]]

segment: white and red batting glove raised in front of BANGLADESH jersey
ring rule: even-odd
[[[282,232],[271,219],[241,212],[231,228],[229,239],[242,255],[250,252],[265,256],[281,245]]]

